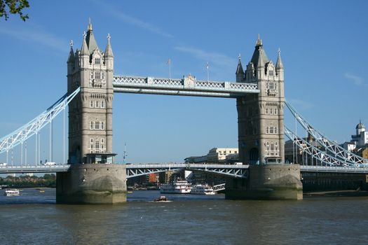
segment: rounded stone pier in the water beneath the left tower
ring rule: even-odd
[[[115,164],[75,164],[56,176],[60,204],[114,204],[126,202],[126,168]]]

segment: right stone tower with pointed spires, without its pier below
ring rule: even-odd
[[[240,162],[284,162],[284,67],[280,50],[273,64],[258,38],[245,71],[239,57],[236,81],[257,83],[260,90],[259,94],[248,94],[236,102]]]

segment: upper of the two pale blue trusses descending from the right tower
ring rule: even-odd
[[[301,117],[301,115],[294,109],[291,104],[289,104],[289,102],[285,101],[285,104],[294,116],[294,118],[296,118],[301,126],[304,127],[304,129],[309,134],[311,134],[315,141],[317,141],[321,146],[325,148],[326,152],[329,155],[333,155],[335,158],[338,158],[342,162],[346,161],[349,163],[349,165],[362,165],[364,163],[367,163],[367,159],[364,159],[358,155],[355,155],[354,153],[351,153],[350,151],[347,151],[346,149],[336,144],[336,142],[328,139],[321,132],[316,130],[315,127],[311,125],[311,123],[308,123],[306,119]]]

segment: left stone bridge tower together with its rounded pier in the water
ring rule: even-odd
[[[113,163],[112,100],[114,55],[107,36],[104,52],[98,48],[89,23],[81,50],[67,61],[68,92],[81,87],[69,103],[68,172],[57,173],[56,202],[111,204],[126,202],[125,165]]]

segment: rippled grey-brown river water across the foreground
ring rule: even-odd
[[[55,204],[55,189],[0,191],[0,244],[367,244],[368,197],[233,201],[134,191],[118,205]]]

